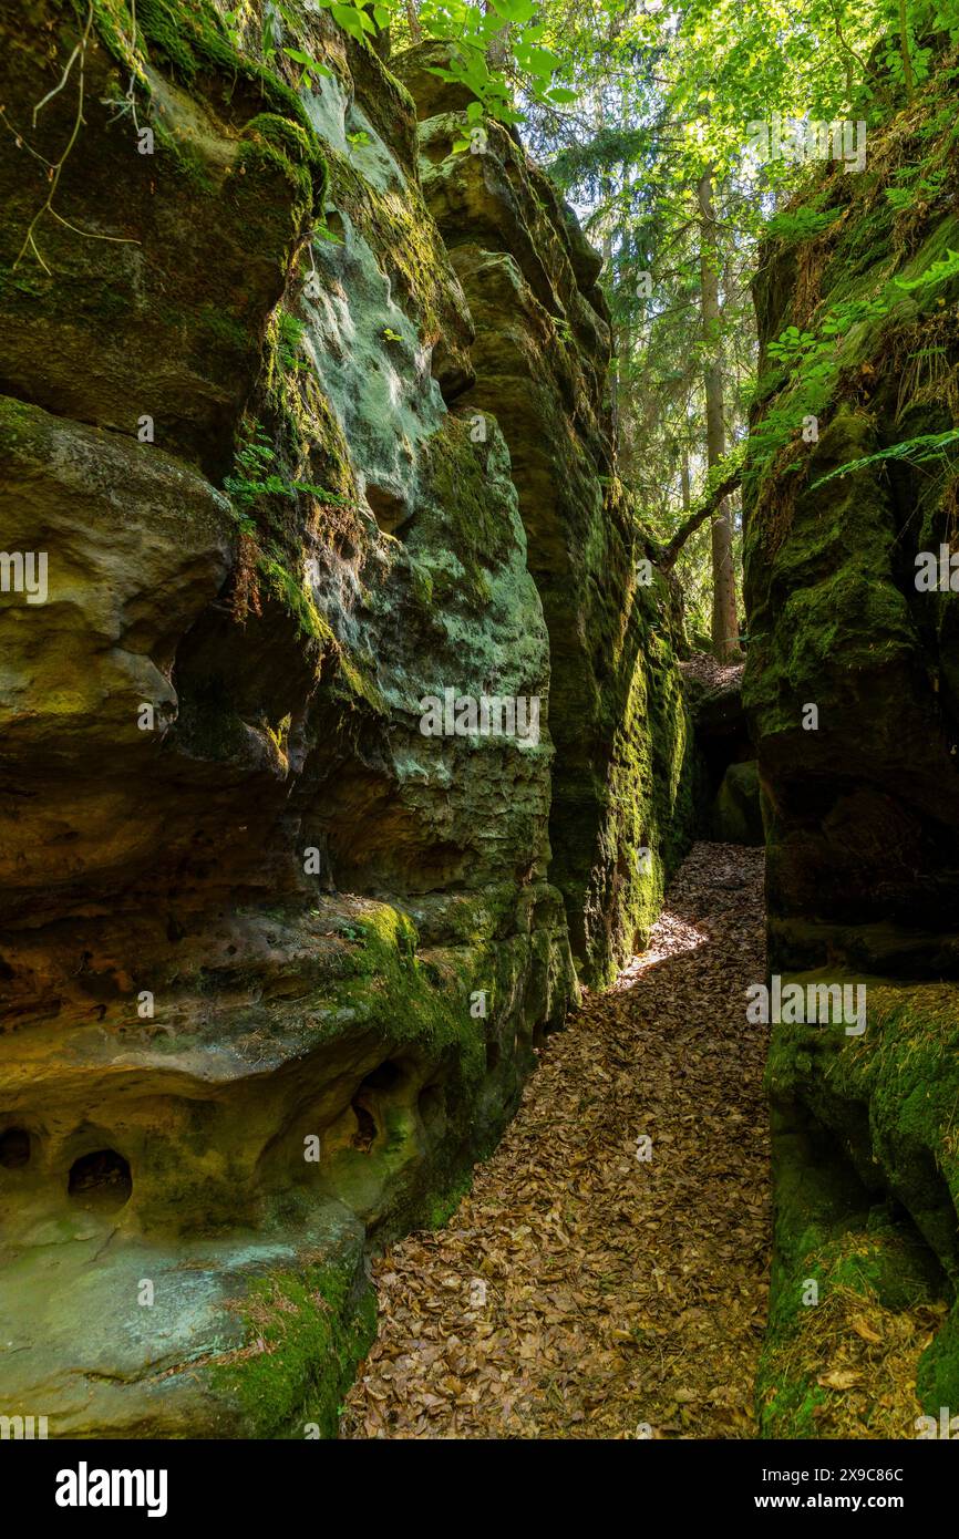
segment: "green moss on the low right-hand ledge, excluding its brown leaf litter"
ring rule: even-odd
[[[816,1373],[790,1368],[816,1331],[814,1310],[802,1307],[805,1279],[819,1282],[822,1300],[844,1290],[896,1313],[941,1308],[959,1280],[956,985],[865,986],[862,1036],[842,1027],[773,1031],[776,1264],[760,1370],[768,1436],[816,1436],[802,1430],[814,1425],[807,1397]],[[790,1108],[802,1108],[800,1131]],[[880,1191],[891,1207],[876,1200]],[[959,1404],[957,1320],[953,1310],[919,1362],[930,1414]],[[916,1354],[927,1336],[919,1333]]]

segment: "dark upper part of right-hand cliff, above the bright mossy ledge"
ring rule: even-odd
[[[867,175],[830,166],[780,215],[813,211],[816,232],[771,242],[756,280],[743,699],[770,799],[776,966],[807,965],[810,925],[848,965],[890,965],[877,925],[899,930],[904,976],[959,965],[956,599],[916,588],[916,556],[953,531],[959,452],[934,468],[874,457],[956,422],[959,279],[936,279],[959,245],[953,69],[870,128]],[[904,202],[913,182],[936,191]],[[790,382],[765,354],[788,325],[819,339]]]

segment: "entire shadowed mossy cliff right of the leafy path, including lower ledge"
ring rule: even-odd
[[[864,175],[834,168],[779,217],[756,288],[767,374],[747,488],[745,700],[771,966],[865,983],[864,1030],[774,1027],[774,1434],[836,1434],[814,1365],[830,1331],[856,1344],[850,1320],[865,1317],[905,1368],[888,1402],[853,1404],[859,1422],[842,1430],[913,1436],[902,1382],[959,1267],[956,600],[948,580],[917,580],[924,553],[939,563],[956,534],[956,166],[945,60],[870,134]],[[765,349],[788,326],[805,332],[802,356],[777,360]],[[802,1308],[810,1277],[828,1307]],[[953,1314],[917,1367],[934,1414],[959,1397],[954,1342]]]

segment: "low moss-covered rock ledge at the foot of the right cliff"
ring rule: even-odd
[[[862,1033],[773,1028],[767,1436],[910,1437],[959,1404],[956,985],[859,985]]]

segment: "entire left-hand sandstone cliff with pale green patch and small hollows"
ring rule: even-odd
[[[687,719],[519,146],[417,134],[325,14],[299,91],[205,3],[125,17],[3,49],[31,149],[80,128],[52,194],[0,155],[0,1359],[54,1436],[303,1436],[570,936],[600,976],[648,920]]]

